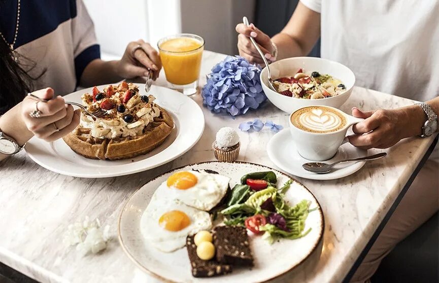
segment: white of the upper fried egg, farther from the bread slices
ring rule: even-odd
[[[227,193],[230,178],[220,174],[207,173],[204,170],[188,171],[196,176],[198,182],[195,186],[179,190],[175,187],[168,187],[166,181],[157,189],[162,197],[177,199],[186,205],[209,211],[217,205]]]

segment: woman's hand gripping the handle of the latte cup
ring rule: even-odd
[[[354,107],[352,115],[365,119],[352,127],[355,135],[348,137],[352,145],[361,149],[389,148],[402,138],[421,134],[425,121],[418,105],[367,112]]]

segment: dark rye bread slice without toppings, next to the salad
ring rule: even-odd
[[[213,232],[216,259],[233,266],[253,266],[247,229],[241,226],[217,226]]]

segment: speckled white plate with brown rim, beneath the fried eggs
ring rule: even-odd
[[[311,232],[296,240],[281,239],[272,245],[260,236],[251,237],[251,249],[254,256],[253,268],[234,268],[227,275],[206,278],[194,278],[186,248],[173,253],[163,253],[155,249],[142,236],[140,220],[154,191],[175,171],[189,169],[211,169],[231,178],[230,187],[240,182],[241,177],[255,171],[274,171],[278,177],[278,186],[282,186],[290,176],[262,165],[246,162],[203,162],[187,165],[157,176],[134,193],[122,208],[119,217],[119,242],[128,257],[142,270],[162,280],[174,282],[261,282],[284,274],[303,262],[316,249],[323,235],[324,221],[319,203],[313,194],[302,184],[293,182],[286,193],[291,204],[302,199],[311,201],[312,211],[306,221],[305,230]]]

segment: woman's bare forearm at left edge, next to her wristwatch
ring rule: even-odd
[[[2,117],[0,117],[0,130],[6,135],[14,138],[17,143],[22,146],[28,141],[32,136],[24,121],[21,119],[21,104],[18,103],[14,108],[6,112]],[[0,154],[0,160],[5,159],[7,155]]]

